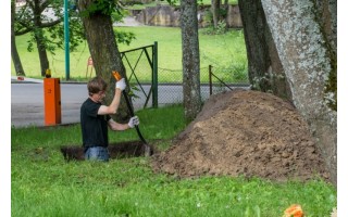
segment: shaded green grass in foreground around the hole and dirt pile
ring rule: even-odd
[[[186,127],[181,105],[137,115],[144,137],[161,141],[160,150]],[[110,132],[111,142],[134,140],[135,130]],[[152,173],[147,157],[66,163],[59,148],[67,144],[80,145],[79,125],[12,127],[11,216],[279,217],[298,203],[307,217],[328,217],[337,205],[335,188],[320,179],[179,179]]]

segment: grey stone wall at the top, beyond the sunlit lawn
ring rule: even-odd
[[[210,7],[199,7],[198,25],[207,27],[210,21],[207,21],[206,14],[210,13]],[[179,27],[179,8],[167,4],[158,4],[157,7],[147,7],[144,10],[130,10],[130,15],[136,21],[149,26],[170,26]],[[228,5],[226,25],[229,28],[243,28],[238,5]]]

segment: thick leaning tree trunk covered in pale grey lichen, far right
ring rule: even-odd
[[[331,75],[336,75],[335,60],[331,53],[321,25],[320,14],[311,0],[261,0],[281,62],[289,80],[293,101],[309,123],[316,144],[322,152],[331,180],[337,184],[336,143],[337,113],[326,100]]]

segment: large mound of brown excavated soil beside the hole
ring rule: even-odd
[[[173,144],[153,155],[151,165],[154,171],[179,177],[328,178],[308,125],[295,107],[251,90],[211,97]]]

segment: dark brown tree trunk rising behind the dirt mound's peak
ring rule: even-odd
[[[239,0],[252,88],[291,101],[283,65],[266,24],[261,0]]]

